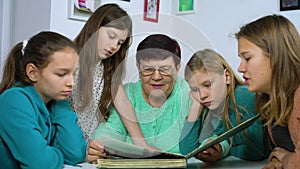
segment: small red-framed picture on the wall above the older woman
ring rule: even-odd
[[[144,20],[158,22],[160,0],[145,0],[144,2]]]

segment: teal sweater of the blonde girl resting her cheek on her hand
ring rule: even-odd
[[[238,110],[241,114],[241,120],[245,121],[255,115],[254,105],[254,93],[250,93],[246,86],[238,86],[235,91],[235,98]],[[233,107],[232,102],[230,106]],[[233,126],[237,125],[235,118],[235,112],[229,109],[229,118]],[[182,154],[188,154],[195,148],[199,147],[198,138],[201,134],[202,125],[200,122],[202,119],[198,119],[196,122],[185,122],[184,128],[181,134],[180,151]],[[214,135],[220,135],[227,131],[223,125],[222,119],[218,122],[218,126],[214,131]],[[261,121],[256,121],[249,128],[245,130],[247,136],[243,132],[236,134],[233,137],[232,146],[228,143],[230,140],[221,143],[223,156],[233,155],[238,158],[245,160],[262,160],[269,156],[270,150],[263,140],[263,127]],[[227,143],[226,143],[227,142]],[[229,153],[228,153],[229,152]],[[225,154],[224,154],[225,153]],[[228,154],[227,154],[228,153]]]

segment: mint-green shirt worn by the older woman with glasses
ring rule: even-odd
[[[179,78],[160,108],[153,108],[145,101],[141,81],[127,84],[125,90],[147,143],[163,151],[180,153],[178,140],[191,103],[187,82]],[[132,143],[115,108],[111,109],[107,122],[97,127],[93,138],[99,139],[102,135]]]

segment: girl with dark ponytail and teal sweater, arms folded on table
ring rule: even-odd
[[[1,168],[62,168],[86,155],[68,104],[78,54],[68,38],[40,32],[10,52],[0,84]]]

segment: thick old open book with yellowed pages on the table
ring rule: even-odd
[[[259,114],[231,128],[187,155],[154,151],[107,136],[100,138],[108,158],[98,159],[99,168],[186,168],[187,160],[208,147],[232,137],[253,124]]]

